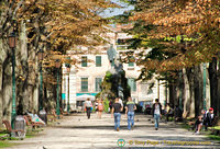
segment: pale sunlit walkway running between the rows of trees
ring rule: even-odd
[[[122,127],[120,131],[114,131],[113,118],[110,114],[103,114],[101,119],[98,119],[96,114],[91,115],[91,119],[87,119],[86,114],[73,114],[58,121],[59,124],[46,127],[37,137],[14,141],[20,145],[9,149],[120,149],[119,139],[125,141],[123,148],[128,149],[220,149],[219,144],[202,135],[194,135],[179,128],[173,122],[161,123],[160,129],[155,130],[151,117],[136,115],[134,129],[128,130],[127,118],[122,115]]]

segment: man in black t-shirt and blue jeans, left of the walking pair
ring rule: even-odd
[[[121,121],[121,112],[122,106],[119,103],[119,98],[116,99],[114,103],[112,104],[112,113],[111,117],[114,116],[114,130],[119,131],[120,128],[120,121]]]

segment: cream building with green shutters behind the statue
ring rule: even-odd
[[[72,67],[69,74],[69,103],[72,111],[77,110],[80,106],[79,95],[88,94],[95,96],[99,93],[100,82],[103,80],[107,70],[110,69],[110,62],[107,56],[107,49],[110,44],[113,45],[117,53],[123,53],[129,50],[128,45],[123,44],[124,39],[132,38],[125,33],[122,33],[119,27],[111,28],[110,33],[107,33],[107,38],[109,38],[109,44],[100,47],[96,47],[101,50],[101,53],[94,54],[89,53],[89,48],[85,48],[87,54],[75,54],[69,51],[72,58],[78,59],[80,61],[77,66]],[[100,51],[100,50],[99,50]],[[67,104],[68,99],[68,74],[66,73],[65,65],[63,66],[63,100]],[[123,64],[123,69],[125,71],[125,77],[128,78],[128,84],[131,87],[131,96],[139,102],[153,102],[155,99],[160,99],[161,103],[165,101],[165,88],[160,85],[158,81],[153,79],[151,81],[135,81],[140,74],[141,68],[135,65],[135,62]],[[153,88],[148,88],[154,83]],[[142,103],[143,104],[143,103]]]

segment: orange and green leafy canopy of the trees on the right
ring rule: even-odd
[[[157,47],[158,44],[156,43],[160,43],[165,47],[163,50],[160,49],[162,50],[161,54],[168,54],[168,56],[163,56],[163,60],[152,58],[141,60],[139,58],[140,65],[146,68],[146,72],[151,69],[163,72],[179,71],[186,68],[187,71],[184,72],[188,72],[188,77],[191,78],[189,76],[191,68],[195,74],[200,74],[199,65],[212,60],[210,66],[212,64],[213,66],[211,66],[212,69],[209,69],[209,72],[212,78],[210,81],[213,83],[213,78],[217,78],[215,77],[216,73],[212,72],[217,72],[215,61],[217,61],[220,49],[220,2],[218,0],[132,0],[129,2],[135,5],[134,11],[130,12],[130,15],[125,15],[125,19],[135,23],[131,32],[139,43],[135,44],[146,48],[152,47],[151,43],[153,43],[153,47]],[[141,31],[135,26],[141,26]],[[186,79],[186,77],[184,78]],[[201,76],[194,78],[191,88],[195,90],[199,88],[198,94],[202,94],[202,88],[198,85],[201,83]],[[196,85],[198,87],[196,88]],[[211,85],[211,90],[216,89],[218,89],[217,84],[216,87]],[[211,95],[212,101],[218,104],[212,102],[211,106],[219,111],[218,101],[220,100],[213,100],[213,96],[217,98],[218,95],[216,93]],[[198,103],[202,101],[199,100]],[[199,110],[196,114],[198,112]]]

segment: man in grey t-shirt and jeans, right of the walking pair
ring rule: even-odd
[[[125,115],[128,117],[128,128],[131,130],[131,128],[134,127],[134,111],[136,110],[136,106],[134,102],[132,101],[131,96],[129,96],[127,105],[125,105]]]

